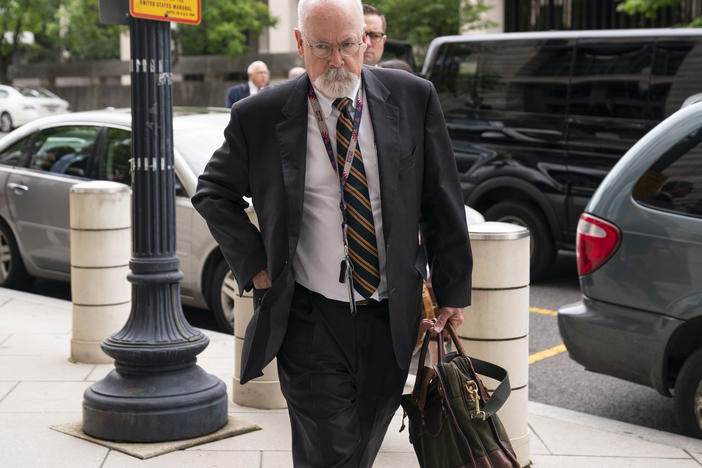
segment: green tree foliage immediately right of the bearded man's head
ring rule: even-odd
[[[483,19],[485,0],[376,0],[387,21],[387,35],[426,50],[436,36],[492,26]]]

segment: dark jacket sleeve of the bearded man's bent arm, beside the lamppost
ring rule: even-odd
[[[266,268],[266,254],[261,234],[245,211],[250,155],[238,110],[233,109],[231,115],[224,144],[199,177],[192,203],[207,222],[243,294],[252,287],[253,276]]]

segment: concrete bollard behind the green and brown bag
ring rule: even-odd
[[[472,304],[458,330],[469,356],[507,369],[512,386],[497,413],[521,466],[529,464],[529,231],[516,224],[470,226]],[[497,382],[483,379],[488,391]]]

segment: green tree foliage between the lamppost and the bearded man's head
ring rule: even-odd
[[[241,55],[248,51],[248,34],[261,34],[274,26],[268,6],[257,0],[208,0],[202,5],[202,22],[179,24],[174,34],[182,55]]]

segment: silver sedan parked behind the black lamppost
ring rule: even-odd
[[[231,332],[235,280],[190,203],[228,121],[226,109],[176,109],[173,134],[182,300],[211,309]],[[70,280],[70,187],[88,179],[129,184],[130,127],[129,110],[80,112],[34,120],[0,139],[0,286],[29,276]]]

